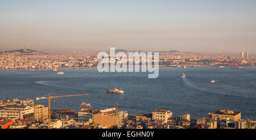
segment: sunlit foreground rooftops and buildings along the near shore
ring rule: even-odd
[[[256,121],[241,120],[241,112],[217,110],[191,120],[189,113],[172,117],[171,111],[154,110],[151,114],[128,114],[118,104],[108,109],[81,107],[51,109],[32,99],[0,100],[0,129],[255,129]],[[175,113],[175,112],[174,112]]]

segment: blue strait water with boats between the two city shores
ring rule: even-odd
[[[53,109],[78,111],[81,102],[94,108],[115,107],[129,113],[151,113],[154,109],[171,110],[173,116],[190,113],[204,117],[217,109],[240,111],[242,118],[256,118],[256,70],[220,67],[160,67],[159,77],[148,73],[98,73],[97,69],[56,71],[0,71],[0,100],[34,99],[46,94],[89,94],[52,100]],[[181,78],[181,73],[186,77]],[[216,83],[210,83],[210,80]],[[122,87],[125,95],[106,90]],[[46,99],[36,103],[47,105]],[[47,105],[48,106],[48,105]]]

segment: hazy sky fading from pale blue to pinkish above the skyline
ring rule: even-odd
[[[0,51],[256,54],[256,1],[0,0]]]

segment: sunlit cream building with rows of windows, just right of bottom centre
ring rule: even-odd
[[[152,112],[152,120],[163,120],[164,123],[167,123],[170,117],[172,117],[171,111],[160,109]]]

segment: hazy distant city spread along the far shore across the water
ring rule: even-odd
[[[116,50],[128,52],[127,50]],[[98,53],[98,52],[97,52]],[[97,67],[100,60],[96,54],[53,54],[30,49],[0,52],[0,70],[52,70],[85,69]],[[120,60],[115,60],[115,62]],[[127,59],[128,61],[128,59]],[[134,63],[141,63],[141,60]],[[159,66],[170,67],[240,67],[255,66],[256,57],[242,51],[238,56],[210,56],[205,54],[180,52],[176,50],[159,52]]]

